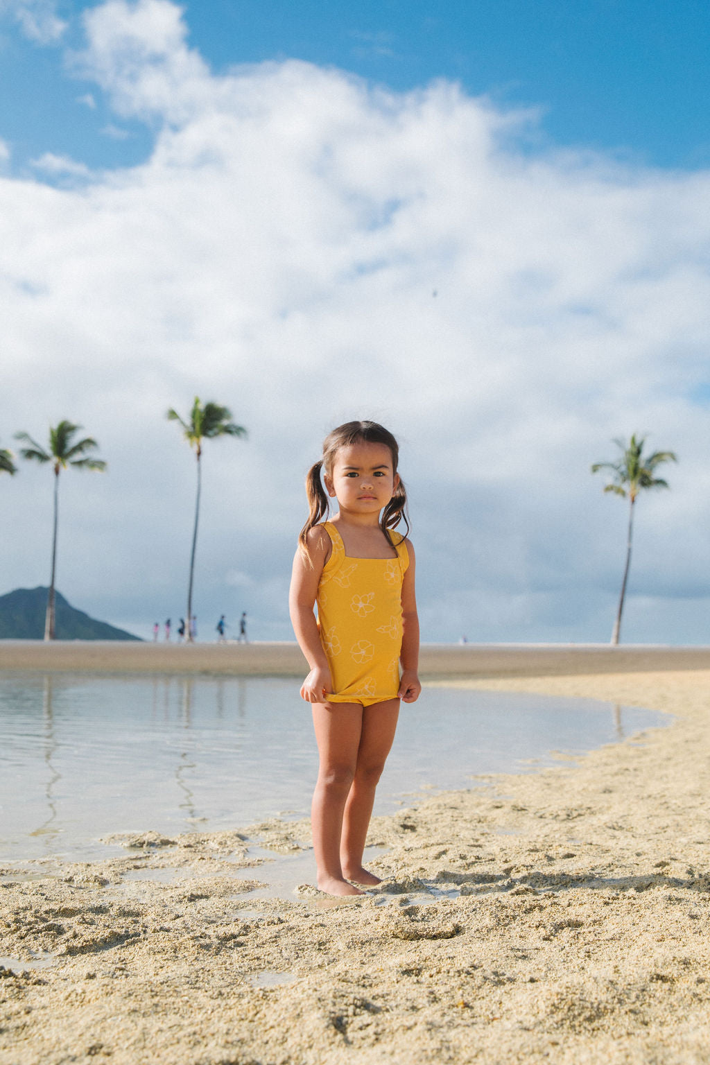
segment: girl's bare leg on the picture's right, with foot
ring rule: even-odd
[[[358,884],[380,883],[378,876],[363,869],[362,852],[365,849],[367,828],[373,814],[375,788],[395,738],[398,715],[398,699],[374,703],[373,706],[363,707],[362,711],[358,760],[350,793],[345,804],[341,838],[343,875]]]

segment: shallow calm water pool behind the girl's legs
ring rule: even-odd
[[[113,832],[307,816],[317,754],[298,688],[274,677],[1,677],[0,861],[99,857],[115,853],[98,842]],[[592,700],[425,688],[402,706],[375,812],[667,721]]]

